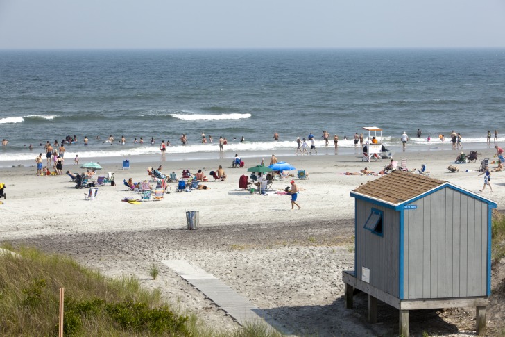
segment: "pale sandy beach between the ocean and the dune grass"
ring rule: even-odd
[[[167,156],[164,162],[159,156],[139,161],[130,157],[129,170],[121,170],[119,160],[105,161],[102,172],[115,172],[117,186],[100,187],[93,201],[86,201],[87,190],[74,188],[67,175],[36,176],[35,166],[26,163],[3,168],[0,182],[6,183],[7,199],[0,205],[1,240],[68,254],[108,276],[133,274],[144,286],[162,288],[169,301],[182,310],[198,313],[214,327],[234,329],[237,324],[160,261],[180,259],[203,268],[299,336],[394,334],[397,311],[379,304],[379,323],[366,323],[366,297],[357,296],[355,310],[344,309],[341,281],[342,270],[354,267],[354,199],[350,191],[379,178],[344,173],[359,172],[364,167],[379,172],[388,160],[367,163],[361,161],[359,153],[335,156],[332,152],[322,149],[317,156],[277,154],[279,161],[309,174],[309,179],[295,178],[302,189],[300,210],[291,210],[286,195],[251,194],[239,189],[239,177],[249,175],[247,167],[259,164],[262,158],[268,164],[271,154],[266,152],[245,158],[246,167],[241,169],[230,167],[231,153],[222,159],[206,160],[172,161]],[[483,186],[483,176],[477,172],[480,159],[493,161],[495,149],[478,152],[479,161],[466,164],[452,163],[459,151],[451,150],[407,148],[397,151],[394,158],[406,159],[409,169],[425,164],[431,177],[478,192]],[[64,172],[82,171],[73,165],[73,158],[67,162]],[[138,196],[126,190],[123,179],[143,181],[148,179],[146,168],[158,165],[163,165],[164,174],[174,171],[178,176],[183,169],[202,169],[209,176],[209,171],[223,165],[228,178],[204,183],[207,190],[191,192],[176,192],[176,183],[170,183],[170,193],[159,202],[122,202],[124,197]],[[459,172],[450,173],[448,165],[459,167]],[[502,211],[505,173],[493,172],[492,177],[493,192],[486,188],[483,195],[497,202]],[[274,190],[286,186],[289,180],[273,184]],[[196,231],[186,230],[186,211],[199,212]],[[148,274],[153,263],[160,268],[155,281]],[[493,304],[493,296],[491,299]],[[498,305],[488,307],[490,331],[503,322],[500,310]],[[473,309],[416,312],[411,315],[410,331],[415,336],[422,331],[440,336],[472,335],[474,314]]]

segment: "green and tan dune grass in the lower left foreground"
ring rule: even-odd
[[[21,255],[0,252],[0,336],[58,336],[60,288],[65,336],[282,336],[266,324],[217,331],[171,309],[135,277],[110,279],[67,256],[0,247]]]

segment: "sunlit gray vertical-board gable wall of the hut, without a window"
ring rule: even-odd
[[[404,299],[486,295],[488,204],[445,188],[404,210]]]

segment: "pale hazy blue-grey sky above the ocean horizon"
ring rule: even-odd
[[[0,0],[0,49],[505,47],[505,0]]]

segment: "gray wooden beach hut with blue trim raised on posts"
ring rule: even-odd
[[[345,307],[354,289],[400,311],[475,306],[477,334],[486,329],[491,291],[491,210],[496,203],[447,181],[393,172],[350,192],[355,205],[354,270],[343,271]]]

